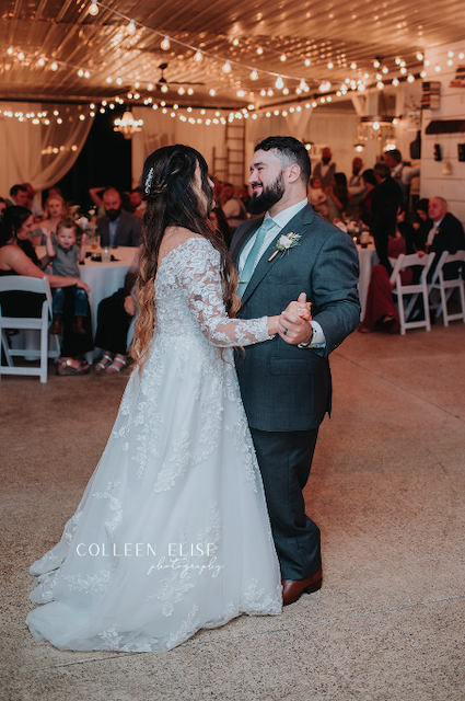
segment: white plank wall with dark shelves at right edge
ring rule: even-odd
[[[452,66],[447,66],[449,51],[453,51]],[[425,60],[430,65],[426,67],[425,80],[441,81],[441,97],[439,110],[425,110],[422,124],[421,145],[421,196],[444,197],[449,203],[450,211],[465,223],[465,162],[458,162],[457,143],[465,143],[465,134],[431,135],[426,136],[425,129],[432,119],[465,119],[465,88],[450,88],[451,80],[455,77],[457,65],[465,66],[465,59],[458,59],[457,55],[465,54],[465,41],[427,49]],[[440,66],[440,72],[435,71]],[[434,161],[434,143],[442,149],[442,162]],[[444,166],[452,166],[452,174],[444,174]]]

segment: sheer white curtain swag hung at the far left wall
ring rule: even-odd
[[[38,125],[26,118],[44,112],[49,125],[44,117]],[[23,122],[14,116],[21,113]],[[0,102],[0,195],[7,197],[18,183],[32,183],[36,191],[57,183],[74,164],[92,122],[86,105]]]

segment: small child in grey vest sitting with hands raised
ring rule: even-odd
[[[81,248],[75,245],[75,223],[70,219],[59,221],[57,225],[57,244],[51,243],[51,239],[47,235],[46,249],[47,255],[53,257],[54,275],[62,277],[80,277],[78,261],[85,258],[85,233],[81,238]],[[83,321],[88,315],[88,292],[89,286],[80,281],[79,285],[66,288],[68,294],[74,297],[74,323],[72,330],[74,333],[85,335]],[[54,289],[53,312],[54,321],[50,326],[50,333],[60,334],[62,331],[62,313],[65,306],[65,288],[56,287]]]

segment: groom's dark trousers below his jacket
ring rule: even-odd
[[[268,432],[251,427],[265,486],[282,579],[306,579],[322,566],[319,528],[302,495],[318,429]]]

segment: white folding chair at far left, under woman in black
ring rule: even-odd
[[[22,275],[8,275],[0,277],[0,292],[35,292],[45,295],[42,304],[40,317],[4,317],[0,302],[0,334],[1,345],[7,359],[7,365],[2,365],[0,360],[0,379],[2,375],[38,375],[40,382],[47,381],[47,358],[58,358],[60,355],[59,341],[57,336],[53,336],[53,345],[55,349],[48,349],[48,326],[51,320],[51,292],[48,278],[45,275],[39,277],[26,277]],[[7,329],[36,329],[40,332],[40,347],[33,348],[10,348],[7,338]],[[12,358],[14,356],[27,356],[32,358],[40,358],[40,367],[22,367],[15,366]]]

